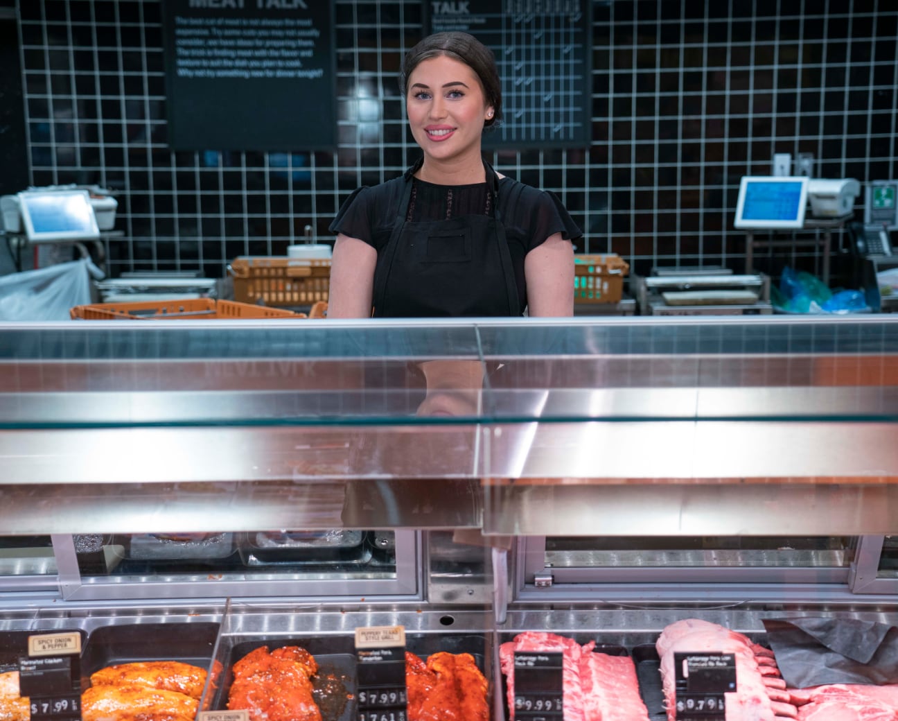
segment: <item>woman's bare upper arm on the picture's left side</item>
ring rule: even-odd
[[[371,316],[377,251],[364,240],[340,233],[330,261],[329,318]]]

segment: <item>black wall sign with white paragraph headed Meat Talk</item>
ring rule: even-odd
[[[163,0],[172,149],[336,147],[333,5]]]

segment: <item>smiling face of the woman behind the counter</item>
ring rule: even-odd
[[[476,153],[487,114],[480,78],[471,67],[445,55],[418,63],[409,76],[409,126],[425,156],[453,160]]]

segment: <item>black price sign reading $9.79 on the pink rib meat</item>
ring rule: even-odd
[[[736,689],[735,654],[674,653],[676,721],[726,721]]]

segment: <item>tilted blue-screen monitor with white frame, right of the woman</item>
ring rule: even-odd
[[[807,178],[751,176],[739,183],[735,227],[794,228],[805,225]]]

